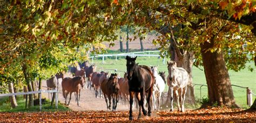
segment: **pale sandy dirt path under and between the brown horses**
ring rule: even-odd
[[[70,75],[64,75],[64,77],[70,77]],[[65,99],[63,97],[62,94],[62,79],[59,79],[59,96],[58,96],[58,100],[60,101],[60,103],[65,104]],[[46,86],[46,81],[42,81],[42,85]],[[87,82],[86,82],[87,84]],[[46,89],[46,88],[43,88]],[[48,98],[48,93],[43,93],[43,96],[45,98]],[[68,100],[69,100],[69,95],[68,95]],[[90,89],[82,89],[81,94],[80,94],[80,101],[79,101],[79,105],[77,106],[77,103],[75,102],[75,94],[72,93],[71,96],[71,101],[70,101],[70,105],[69,108],[71,108],[71,110],[73,111],[109,111],[106,108],[106,102],[104,98],[96,98],[95,97],[95,91],[93,90],[93,88]],[[111,105],[112,108],[112,105]],[[129,107],[128,105],[122,105],[120,100],[119,100],[119,104],[117,105],[117,111],[129,111]]]

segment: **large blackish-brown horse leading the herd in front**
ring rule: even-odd
[[[136,95],[136,98],[139,102],[139,116],[138,119],[142,117],[142,113],[144,115],[151,116],[151,105],[150,98],[152,96],[153,84],[154,84],[154,76],[151,72],[150,67],[147,66],[138,66],[136,64],[137,56],[132,58],[130,56],[126,56],[126,69],[127,69],[127,78],[129,84],[129,94],[130,94],[130,115],[129,120],[132,120],[132,104],[133,104],[133,96]],[[147,93],[147,104],[148,104],[148,112],[144,108],[144,93]]]

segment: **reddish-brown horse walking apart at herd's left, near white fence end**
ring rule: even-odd
[[[82,88],[84,87],[84,78],[81,76],[76,76],[73,78],[66,77],[63,79],[62,92],[63,92],[63,97],[65,98],[65,104],[66,104],[66,99],[68,98],[69,93],[70,93],[70,98],[69,98],[69,103],[70,103],[72,92],[75,92],[75,95],[77,95],[76,96],[77,105],[79,106],[81,86]]]

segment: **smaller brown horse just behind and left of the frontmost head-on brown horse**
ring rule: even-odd
[[[101,89],[100,89],[100,86],[99,86],[99,78],[100,78],[100,76],[103,76],[104,75],[104,72],[102,71],[102,72],[94,72],[94,73],[92,73],[92,87],[94,88],[94,90],[95,90],[95,97],[96,98],[98,98],[98,95],[99,95],[99,93],[100,93],[100,91],[101,91]],[[99,90],[99,92],[98,92],[98,90]]]

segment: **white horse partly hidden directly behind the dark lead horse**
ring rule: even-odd
[[[165,83],[164,80],[161,76],[158,75],[157,73],[157,67],[156,66],[151,66],[152,73],[155,78],[155,83],[153,85],[153,92],[152,92],[152,99],[153,99],[153,109],[158,110],[160,109],[160,98],[161,95],[165,89]],[[156,106],[156,99],[158,100],[158,107]]]

